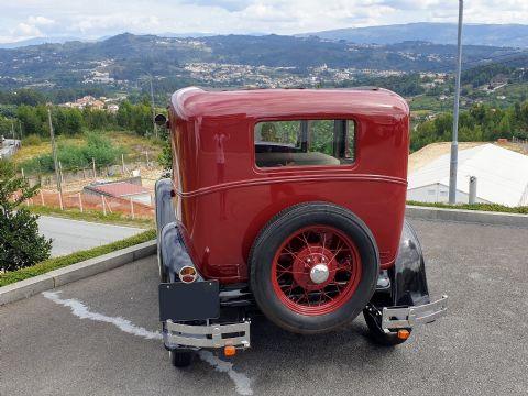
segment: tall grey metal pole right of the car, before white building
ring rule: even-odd
[[[464,0],[459,0],[459,35],[457,56],[457,77],[454,87],[453,140],[451,142],[451,162],[449,167],[449,204],[457,204],[457,172],[459,167],[459,107],[460,77],[462,74],[462,25],[464,19]]]

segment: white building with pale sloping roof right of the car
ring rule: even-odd
[[[449,163],[446,154],[409,175],[407,199],[448,202]],[[458,204],[468,204],[471,176],[477,178],[477,202],[528,206],[528,156],[494,144],[459,152]]]

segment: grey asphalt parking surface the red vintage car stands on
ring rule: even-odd
[[[0,308],[0,395],[526,395],[528,230],[414,224],[451,305],[394,350],[363,319],[317,337],[261,319],[232,366],[205,354],[178,372],[156,339],[148,257]]]

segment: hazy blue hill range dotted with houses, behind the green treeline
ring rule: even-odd
[[[124,33],[97,42],[0,50],[0,88],[72,88],[116,81],[125,89],[146,75],[194,84],[196,74],[219,64],[265,66],[272,68],[272,74],[287,68],[287,73],[297,76],[307,76],[310,68],[320,66],[323,69],[451,73],[455,53],[454,45],[410,41],[364,45],[275,34],[188,38]],[[528,51],[507,47],[466,45],[464,67],[508,62],[519,56],[524,59],[518,62],[526,64],[527,54]],[[246,72],[240,73],[243,79]],[[213,79],[211,84],[218,85],[226,84],[228,78],[215,72],[208,76]]]

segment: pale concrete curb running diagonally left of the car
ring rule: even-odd
[[[156,253],[156,241],[143,242],[99,257],[72,264],[29,279],[0,287],[0,307],[44,290],[109,271]]]

